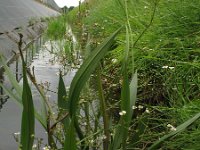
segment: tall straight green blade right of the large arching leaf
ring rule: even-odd
[[[123,68],[122,68],[123,83],[122,83],[122,92],[121,92],[121,111],[122,112],[125,111],[125,114],[121,116],[118,127],[116,128],[116,134],[114,136],[113,143],[111,144],[111,147],[110,147],[111,150],[118,149],[120,145],[122,145],[123,149],[125,149],[126,139],[128,136],[128,127],[129,127],[131,116],[132,116],[132,113],[131,113],[132,112],[131,111],[132,98],[130,97],[130,86],[129,86],[128,70],[127,70],[129,47],[130,47],[129,32],[128,32],[128,28],[126,27],[126,50],[124,54],[124,61],[123,61]],[[132,101],[134,102],[134,99],[132,99]]]

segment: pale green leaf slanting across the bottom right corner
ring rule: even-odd
[[[199,118],[200,118],[200,113],[196,114],[193,118],[191,118],[191,119],[187,120],[186,122],[184,122],[183,124],[179,125],[175,131],[172,131],[169,134],[160,138],[157,142],[155,142],[149,148],[149,150],[157,150],[158,147],[162,144],[162,142],[164,142],[165,140],[168,140],[169,138],[173,137],[174,135],[182,132],[183,130],[185,130],[188,126],[190,126],[192,123],[194,123]]]

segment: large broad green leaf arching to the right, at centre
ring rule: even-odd
[[[102,44],[100,44],[94,51],[91,52],[90,56],[83,62],[73,78],[69,91],[69,112],[71,116],[75,116],[76,114],[79,95],[83,86],[89,79],[91,73],[97,67],[99,61],[112,46],[114,39],[120,30],[121,28],[115,31],[109,38],[107,38]]]

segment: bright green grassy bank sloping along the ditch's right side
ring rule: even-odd
[[[199,112],[196,106],[199,105],[200,3],[197,0],[155,2],[134,0],[125,5],[125,1],[120,0],[96,0],[84,3],[68,14],[83,49],[88,42],[95,47],[120,26],[130,27],[129,79],[134,68],[139,82],[136,105],[144,106],[134,111],[128,141],[130,149],[135,146],[146,149],[151,142],[169,132],[168,124],[176,127]],[[103,60],[101,74],[106,81],[103,85],[105,97],[108,106],[116,107],[110,109],[111,112],[119,111],[125,38],[123,30]],[[150,113],[144,113],[145,110]],[[137,124],[143,119],[141,139],[133,144]],[[197,149],[199,138],[193,133],[199,133],[198,122],[164,143],[162,148]]]

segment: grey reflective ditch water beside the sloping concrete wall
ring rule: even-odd
[[[52,103],[57,101],[57,86],[58,86],[58,72],[62,65],[57,60],[52,52],[52,43],[44,42],[42,38],[36,40],[25,52],[25,58],[30,69],[34,67],[34,74],[37,83],[47,87],[46,95]],[[16,57],[9,65],[15,78],[21,83],[22,67],[20,57]],[[69,86],[76,70],[69,69],[64,76],[65,85]],[[11,88],[6,75],[3,71],[0,72],[0,80],[7,87]],[[31,84],[31,83],[30,83]],[[32,95],[34,105],[39,106],[38,99],[40,98],[37,90],[32,87]],[[13,136],[14,133],[20,132],[22,108],[19,107],[12,99],[6,96],[2,88],[0,88],[0,150],[14,150],[18,149],[18,144]],[[43,143],[47,144],[47,136],[44,129],[36,121],[35,137],[44,139]],[[17,134],[16,134],[17,135]]]

